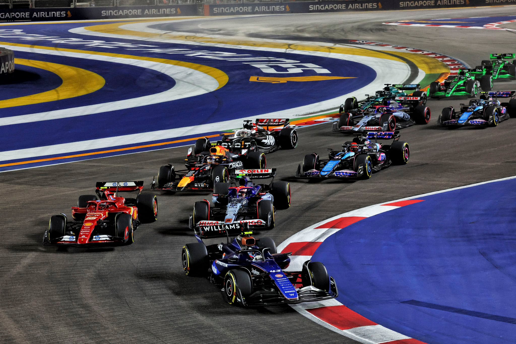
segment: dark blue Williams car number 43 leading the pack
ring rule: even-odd
[[[187,276],[207,277],[221,287],[225,300],[241,306],[268,306],[333,299],[337,286],[320,262],[307,261],[301,271],[283,271],[288,253],[277,253],[274,240],[246,232],[247,223],[196,227],[198,243],[182,250]],[[238,235],[237,235],[238,234]],[[231,239],[230,236],[237,235]],[[227,238],[225,244],[206,245],[203,239]]]

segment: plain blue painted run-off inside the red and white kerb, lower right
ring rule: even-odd
[[[312,260],[338,301],[386,328],[432,344],[514,343],[514,190],[510,179],[418,198],[333,234]]]

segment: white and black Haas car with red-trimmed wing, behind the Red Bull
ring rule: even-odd
[[[250,152],[268,154],[279,149],[294,149],[298,143],[297,130],[289,125],[288,118],[256,119],[255,123],[244,121],[243,129],[234,134],[221,134],[222,139],[216,144],[243,156]],[[207,138],[197,140],[195,154],[211,145]]]

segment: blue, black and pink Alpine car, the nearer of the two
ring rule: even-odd
[[[390,145],[370,142],[369,139],[394,140]],[[409,161],[409,144],[399,141],[399,131],[369,131],[360,133],[342,145],[341,151],[328,149],[328,160],[320,160],[317,153],[307,154],[303,166],[298,166],[298,178],[369,179],[374,172],[391,165],[405,165]]]

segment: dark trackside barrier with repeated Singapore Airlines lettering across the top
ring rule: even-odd
[[[0,12],[0,21],[56,21],[124,18],[152,18],[188,15],[288,14],[348,11],[386,11],[425,8],[466,8],[516,5],[516,0],[420,0],[420,1],[338,1],[237,4],[183,4],[167,6],[13,8]]]

